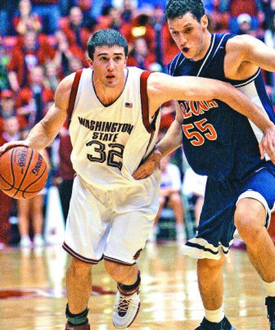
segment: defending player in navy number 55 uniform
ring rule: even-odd
[[[210,34],[201,0],[168,0],[166,19],[180,50],[168,65],[171,76],[228,82],[275,122],[260,69],[275,71],[274,49],[252,36]],[[152,157],[163,157],[182,142],[192,169],[208,175],[197,237],[183,249],[198,259],[205,318],[197,329],[234,329],[223,311],[222,269],[237,229],[263,280],[270,330],[275,330],[275,247],[267,232],[275,208],[274,145],[270,157],[261,146],[259,151],[259,129],[219,100],[182,99],[178,105],[177,118]],[[149,157],[134,177],[146,177],[153,167]]]

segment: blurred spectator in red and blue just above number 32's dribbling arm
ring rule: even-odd
[[[54,100],[51,89],[44,87],[43,67],[34,67],[30,72],[30,83],[19,92],[17,98],[17,113],[28,120],[32,127],[45,115],[45,104]]]

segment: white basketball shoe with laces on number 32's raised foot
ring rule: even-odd
[[[113,305],[113,325],[118,329],[129,327],[135,320],[139,309],[139,292],[124,296],[118,289],[115,305]]]

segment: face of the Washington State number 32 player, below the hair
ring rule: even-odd
[[[89,58],[89,65],[94,69],[94,78],[105,87],[124,84],[126,58],[124,48],[120,46],[98,46],[94,52],[94,61]]]

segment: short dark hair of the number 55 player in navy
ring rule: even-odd
[[[199,22],[205,14],[203,2],[201,0],[168,0],[166,3],[166,19],[182,17],[188,12]]]

